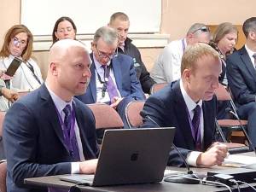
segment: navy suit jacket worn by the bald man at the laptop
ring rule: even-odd
[[[74,98],[74,102],[84,158],[96,158],[93,113],[78,99]],[[72,160],[64,144],[55,104],[44,84],[9,108],[3,130],[8,191],[41,191],[25,189],[24,178],[71,173]]]

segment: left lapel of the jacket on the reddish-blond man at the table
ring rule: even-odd
[[[191,146],[193,146],[193,148],[191,148],[191,149],[194,149],[195,142],[193,140],[193,136],[192,136],[191,129],[190,129],[188,109],[187,109],[186,103],[183,99],[183,95],[180,90],[179,81],[177,81],[177,84],[174,85],[173,92],[174,92],[174,98],[175,98],[174,110],[177,115],[178,128],[181,129],[181,132],[183,132],[183,136],[185,138],[187,146],[189,148],[191,148]],[[184,118],[184,117],[186,117],[186,118]]]

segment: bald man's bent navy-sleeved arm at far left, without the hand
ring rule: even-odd
[[[6,159],[9,174],[19,186],[27,177],[71,173],[70,162],[52,165],[38,163],[38,126],[32,111],[20,102],[15,102],[4,118],[3,144],[8,151]]]

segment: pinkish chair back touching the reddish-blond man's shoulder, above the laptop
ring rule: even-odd
[[[140,112],[143,110],[143,101],[129,102],[125,108],[125,119],[129,128],[137,128],[143,125],[143,118]]]

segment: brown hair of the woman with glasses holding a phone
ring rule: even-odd
[[[15,35],[19,34],[20,32],[25,32],[27,35],[27,44],[25,49],[23,50],[21,57],[23,61],[28,61],[32,55],[32,44],[33,44],[33,36],[32,32],[24,25],[15,25],[9,28],[8,32],[4,37],[3,47],[0,51],[1,57],[8,57],[11,53],[9,51],[9,43]]]

